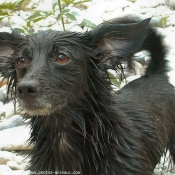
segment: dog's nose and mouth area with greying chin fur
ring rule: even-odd
[[[50,88],[41,89],[36,80],[23,80],[17,85],[19,108],[29,115],[48,116],[60,111],[67,105],[65,91],[52,91]]]

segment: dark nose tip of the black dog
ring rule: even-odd
[[[23,97],[35,97],[38,94],[38,83],[36,81],[22,81],[17,85],[17,95]]]

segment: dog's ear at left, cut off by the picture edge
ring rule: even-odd
[[[4,78],[14,76],[14,59],[11,56],[21,40],[21,35],[15,32],[0,32],[0,74]]]

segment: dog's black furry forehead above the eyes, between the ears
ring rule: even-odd
[[[82,51],[84,48],[90,48],[86,34],[77,32],[47,30],[28,35],[26,40],[22,43],[23,50],[32,55],[48,55],[52,54],[52,51],[72,53],[75,50]]]

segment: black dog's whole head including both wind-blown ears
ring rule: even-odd
[[[20,106],[31,115],[61,112],[105,86],[104,72],[137,52],[150,19],[105,22],[85,33],[0,33],[0,73],[9,79]],[[107,84],[106,84],[107,85]],[[104,87],[104,89],[107,87]]]

